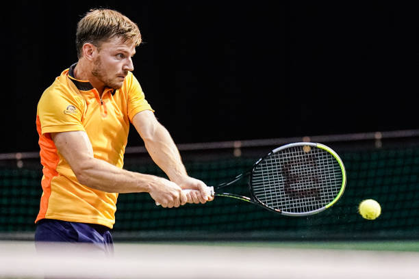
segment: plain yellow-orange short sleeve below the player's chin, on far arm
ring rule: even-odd
[[[151,108],[147,100],[145,99],[144,92],[142,92],[142,88],[140,86],[140,83],[134,77],[134,75],[131,74],[131,80],[129,83],[129,90],[128,90],[128,117],[129,120],[132,121],[132,118],[138,112],[144,111],[144,110],[151,110],[154,112],[154,110]]]

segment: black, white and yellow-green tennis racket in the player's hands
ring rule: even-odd
[[[246,176],[250,198],[222,191]],[[212,196],[251,202],[282,215],[306,216],[335,204],[345,185],[346,171],[336,152],[323,144],[298,142],[275,148],[249,172],[208,189]]]

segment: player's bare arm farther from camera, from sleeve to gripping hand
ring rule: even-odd
[[[132,118],[132,123],[144,140],[145,147],[153,161],[167,174],[170,181],[182,189],[195,189],[188,194],[188,202],[205,203],[212,200],[207,196],[207,185],[196,178],[188,176],[182,163],[179,150],[170,133],[154,116],[153,111],[144,110]]]

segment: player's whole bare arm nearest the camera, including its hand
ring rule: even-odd
[[[148,192],[163,207],[179,207],[187,201],[181,187],[167,179],[129,172],[94,158],[84,131],[51,133],[51,138],[82,185],[110,193]]]

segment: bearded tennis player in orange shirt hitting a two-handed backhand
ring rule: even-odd
[[[118,193],[147,192],[169,208],[212,200],[205,183],[188,176],[173,139],[131,73],[140,43],[136,23],[114,10],[90,10],[79,21],[78,62],[38,103],[44,175],[36,243],[95,243],[109,252]],[[123,170],[130,122],[170,180]]]

